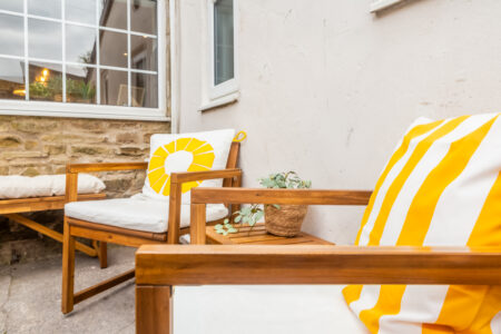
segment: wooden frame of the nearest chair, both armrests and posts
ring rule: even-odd
[[[371,191],[195,189],[191,242],[207,203],[365,205]],[[204,228],[205,230],[205,228]],[[173,286],[219,284],[468,284],[501,282],[501,247],[145,245],[136,253],[137,333],[173,333]]]

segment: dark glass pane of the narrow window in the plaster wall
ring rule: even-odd
[[[214,85],[234,78],[233,0],[214,4]]]

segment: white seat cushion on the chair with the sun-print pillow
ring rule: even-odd
[[[181,205],[180,227],[189,226],[189,205]],[[91,223],[129,229],[164,233],[167,230],[169,202],[146,197],[141,194],[130,198],[72,202],[65,206],[65,215]],[[223,204],[207,205],[207,222],[228,215]]]

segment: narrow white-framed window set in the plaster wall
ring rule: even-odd
[[[238,90],[237,0],[209,1],[209,99]]]

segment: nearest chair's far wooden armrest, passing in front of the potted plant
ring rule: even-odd
[[[366,205],[371,190],[196,188],[191,203]]]

